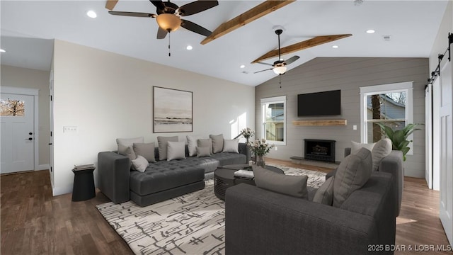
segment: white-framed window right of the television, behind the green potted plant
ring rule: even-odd
[[[413,123],[412,86],[410,81],[360,88],[363,143],[377,142],[384,137],[377,123],[394,130]]]

